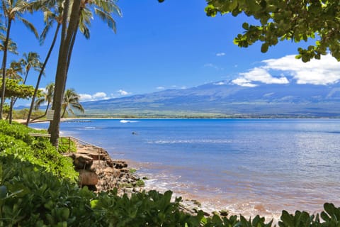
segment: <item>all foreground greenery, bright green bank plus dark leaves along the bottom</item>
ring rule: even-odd
[[[79,188],[71,161],[46,139],[28,135],[32,130],[0,121],[0,226],[273,226],[261,216],[187,214],[170,191],[118,196],[116,189]],[[283,211],[278,226],[340,226],[340,208]]]

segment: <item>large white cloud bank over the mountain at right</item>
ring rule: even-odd
[[[288,84],[287,77],[294,79],[297,84],[333,84],[340,80],[340,63],[331,55],[322,56],[321,60],[311,60],[304,63],[287,55],[278,59],[263,60],[263,65],[254,67],[249,72],[239,73],[234,84],[254,87],[254,82],[263,84]],[[273,77],[273,73],[280,77]]]

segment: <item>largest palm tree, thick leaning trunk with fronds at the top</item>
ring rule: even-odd
[[[115,21],[111,14],[118,13],[118,15],[120,15],[120,10],[114,0],[74,0],[71,13],[69,13],[69,6],[69,0],[65,0],[62,22],[62,39],[58,56],[58,67],[55,75],[55,94],[53,96],[52,107],[52,109],[55,110],[55,114],[49,128],[49,132],[51,134],[50,141],[56,148],[59,140],[60,114],[62,111],[65,84],[67,82],[67,72],[79,26],[86,25],[84,26],[83,33],[89,34],[87,26],[89,25],[90,20],[84,20],[84,16],[92,14],[91,11],[86,10],[86,6],[93,6],[94,12],[103,19],[110,28],[113,28],[114,31]],[[69,23],[67,25],[66,20],[68,15],[70,16]]]

